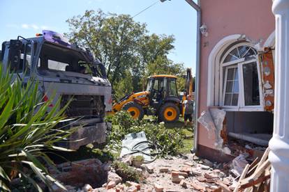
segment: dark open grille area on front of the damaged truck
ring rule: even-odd
[[[68,117],[96,116],[103,118],[105,115],[104,97],[99,95],[62,95],[61,108],[69,101],[66,115]]]

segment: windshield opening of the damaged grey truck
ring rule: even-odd
[[[38,70],[77,72],[103,77],[97,67],[85,57],[85,52],[45,42],[40,51]]]

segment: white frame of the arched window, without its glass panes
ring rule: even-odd
[[[221,59],[221,65],[220,65],[220,81],[219,81],[219,86],[220,86],[220,93],[219,93],[219,104],[220,106],[223,107],[223,109],[225,111],[264,111],[264,104],[263,104],[263,94],[262,94],[262,77],[261,77],[261,73],[260,73],[260,62],[259,62],[259,58],[258,58],[258,53],[257,51],[255,51],[255,49],[253,47],[251,47],[251,49],[253,49],[255,51],[255,56],[250,56],[247,58],[239,58],[235,61],[229,61],[227,63],[223,63],[225,58],[228,56],[228,54],[230,54],[230,52],[240,46],[247,46],[247,47],[251,47],[250,45],[248,45],[248,43],[243,42],[243,43],[239,43],[237,45],[234,45],[232,47],[230,47],[230,49],[228,49],[228,51],[226,51],[226,53],[223,55],[222,59]],[[255,65],[257,65],[257,70],[258,70],[258,86],[259,86],[259,97],[260,97],[260,104],[259,105],[250,105],[250,106],[246,106],[245,105],[245,98],[244,98],[244,74],[243,74],[243,65],[249,64],[249,63],[256,63]],[[225,88],[226,88],[226,84],[227,84],[227,73],[228,73],[228,69],[230,68],[234,68],[237,67],[238,69],[238,83],[239,83],[239,96],[238,96],[238,104],[237,106],[225,106]],[[223,74],[225,72],[225,75]]]

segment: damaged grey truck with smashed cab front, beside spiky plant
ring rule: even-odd
[[[69,105],[66,116],[74,119],[66,129],[81,125],[61,143],[73,150],[88,143],[105,143],[107,125],[105,112],[112,109],[112,86],[103,64],[91,52],[71,45],[53,31],[37,33],[34,38],[18,36],[3,42],[1,63],[13,78],[38,81],[43,100],[52,99],[50,109],[58,99],[61,106]],[[76,119],[76,120],[75,120]]]

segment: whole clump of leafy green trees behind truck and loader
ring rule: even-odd
[[[184,72],[183,64],[168,59],[174,49],[173,35],[150,35],[146,24],[135,22],[130,15],[87,10],[66,22],[71,42],[91,49],[105,65],[116,98],[142,90],[151,74]]]

